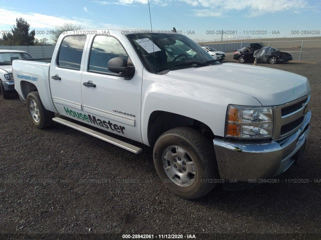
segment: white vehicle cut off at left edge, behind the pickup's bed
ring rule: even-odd
[[[16,59],[32,59],[32,56],[26,51],[0,50],[0,89],[5,99],[15,90],[12,61]]]

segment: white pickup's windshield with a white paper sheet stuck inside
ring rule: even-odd
[[[201,67],[216,61],[195,41],[174,33],[134,33],[127,38],[149,72]],[[154,44],[153,44],[154,43]]]

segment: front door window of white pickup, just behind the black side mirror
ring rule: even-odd
[[[108,61],[114,57],[128,59],[128,55],[120,42],[112,36],[95,36],[90,51],[88,71],[115,74],[108,70]]]

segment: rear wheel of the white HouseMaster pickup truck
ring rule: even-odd
[[[35,126],[39,129],[52,126],[52,118],[55,116],[55,113],[48,111],[44,107],[38,91],[32,91],[28,94],[26,105],[29,118]]]

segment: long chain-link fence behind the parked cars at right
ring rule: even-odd
[[[257,42],[257,41],[256,41]],[[228,43],[204,43],[204,46],[211,46],[219,51],[226,52],[226,60],[232,60],[233,52],[245,46],[249,46],[252,41],[228,42]],[[263,46],[272,46],[280,51],[286,51],[293,57],[293,61],[321,62],[321,40],[295,40],[295,41],[261,41]]]

